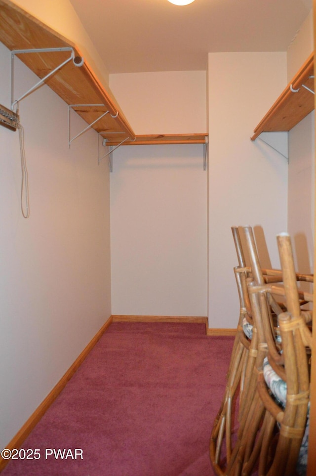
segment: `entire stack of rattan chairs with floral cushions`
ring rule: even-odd
[[[232,231],[240,312],[227,387],[211,435],[211,462],[218,475],[251,475],[256,469],[260,476],[294,475],[298,455],[305,457],[306,346],[311,345],[306,325],[311,312],[301,311],[301,305],[312,300],[312,295],[298,292],[297,280],[312,282],[313,276],[295,273],[289,237],[284,235],[278,237],[282,270],[261,269],[251,227],[243,228],[247,267],[237,227]],[[276,284],[282,280],[284,285]],[[277,303],[278,298],[285,303]],[[278,399],[275,389],[283,389]],[[304,474],[304,464],[302,468]]]

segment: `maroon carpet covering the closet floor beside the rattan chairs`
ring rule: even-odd
[[[213,476],[232,346],[204,324],[112,323],[2,475]]]

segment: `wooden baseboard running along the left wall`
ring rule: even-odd
[[[16,433],[16,435],[11,439],[11,441],[6,445],[6,448],[12,450],[13,448],[19,448],[26,437],[31,433],[34,427],[39,423],[41,417],[48,410],[53,401],[57,398],[59,393],[64,389],[66,384],[70,381],[72,376],[78,370],[83,360],[86,358],[90,350],[96,345],[98,340],[102,337],[104,332],[107,330],[109,325],[112,322],[112,316],[106,321],[106,323],[101,327],[89,344],[82,350],[79,357],[75,360],[72,366],[67,370],[65,375],[60,379],[60,381],[55,385],[55,387],[48,393],[46,398],[41,402],[40,406],[35,410],[35,412],[30,416],[30,418],[25,422],[23,427]],[[0,472],[8,464],[10,460],[4,460],[0,458]]]

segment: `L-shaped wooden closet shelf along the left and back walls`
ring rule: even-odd
[[[10,0],[0,0],[0,42],[10,51],[44,48],[73,48],[75,56],[81,58],[77,46],[43,24]],[[21,53],[16,56],[40,79],[61,65],[70,56],[69,51]],[[78,61],[79,62],[79,61]],[[105,89],[98,81],[90,66],[84,61],[76,66],[71,60],[45,80],[45,84],[55,91],[80,117],[109,145],[123,144],[190,144],[204,143],[206,134],[138,135],[127,122],[110,88]],[[14,98],[15,99],[15,98]],[[82,106],[82,104],[104,104],[104,106]],[[11,106],[11,105],[10,105]],[[102,113],[109,111],[101,119]],[[118,113],[118,114],[117,114]],[[115,116],[115,117],[113,117]],[[95,124],[92,125],[92,123]]]

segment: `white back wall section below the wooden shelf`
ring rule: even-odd
[[[111,174],[112,313],[206,316],[203,146],[122,147]]]

